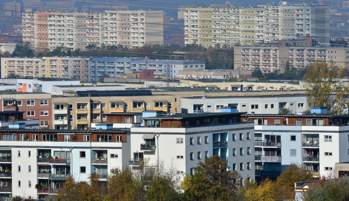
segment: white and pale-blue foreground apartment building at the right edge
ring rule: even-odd
[[[333,174],[335,163],[349,161],[348,115],[242,115],[255,126],[256,179],[276,178],[291,163],[302,164],[314,177]]]

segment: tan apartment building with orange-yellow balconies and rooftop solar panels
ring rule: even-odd
[[[89,129],[91,123],[106,121],[107,113],[157,110],[175,113],[173,95],[155,95],[150,90],[77,91],[53,95],[54,129]]]

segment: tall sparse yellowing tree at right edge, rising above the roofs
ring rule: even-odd
[[[315,62],[314,67],[308,67],[304,77],[305,95],[308,107],[327,107],[331,114],[342,114],[343,106],[348,98],[348,84],[341,83],[344,69],[334,62]]]

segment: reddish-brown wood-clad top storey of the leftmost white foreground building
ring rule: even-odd
[[[14,137],[13,135],[16,134]],[[9,139],[9,135],[12,138]],[[23,136],[25,135],[25,136]],[[43,136],[45,135],[45,138]],[[50,136],[51,135],[51,136]],[[125,132],[76,132],[70,130],[69,132],[29,132],[29,131],[0,131],[0,140],[8,141],[66,141],[65,135],[69,135],[69,141],[83,142],[84,136],[89,136],[89,142],[126,142],[127,135]],[[111,136],[111,141],[106,136]],[[120,136],[122,136],[120,138]],[[110,138],[110,137],[109,137]],[[46,139],[46,140],[45,140]],[[101,140],[103,139],[103,140]],[[120,140],[121,139],[121,140]]]

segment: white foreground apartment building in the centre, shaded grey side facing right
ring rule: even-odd
[[[236,170],[244,180],[254,179],[253,123],[239,122],[242,113],[230,108],[224,113],[162,115],[148,111],[142,120],[144,126],[131,127],[132,170],[138,170],[140,162],[148,158],[149,165],[164,167],[171,162],[179,178],[193,174],[193,167],[206,157],[218,155]]]

